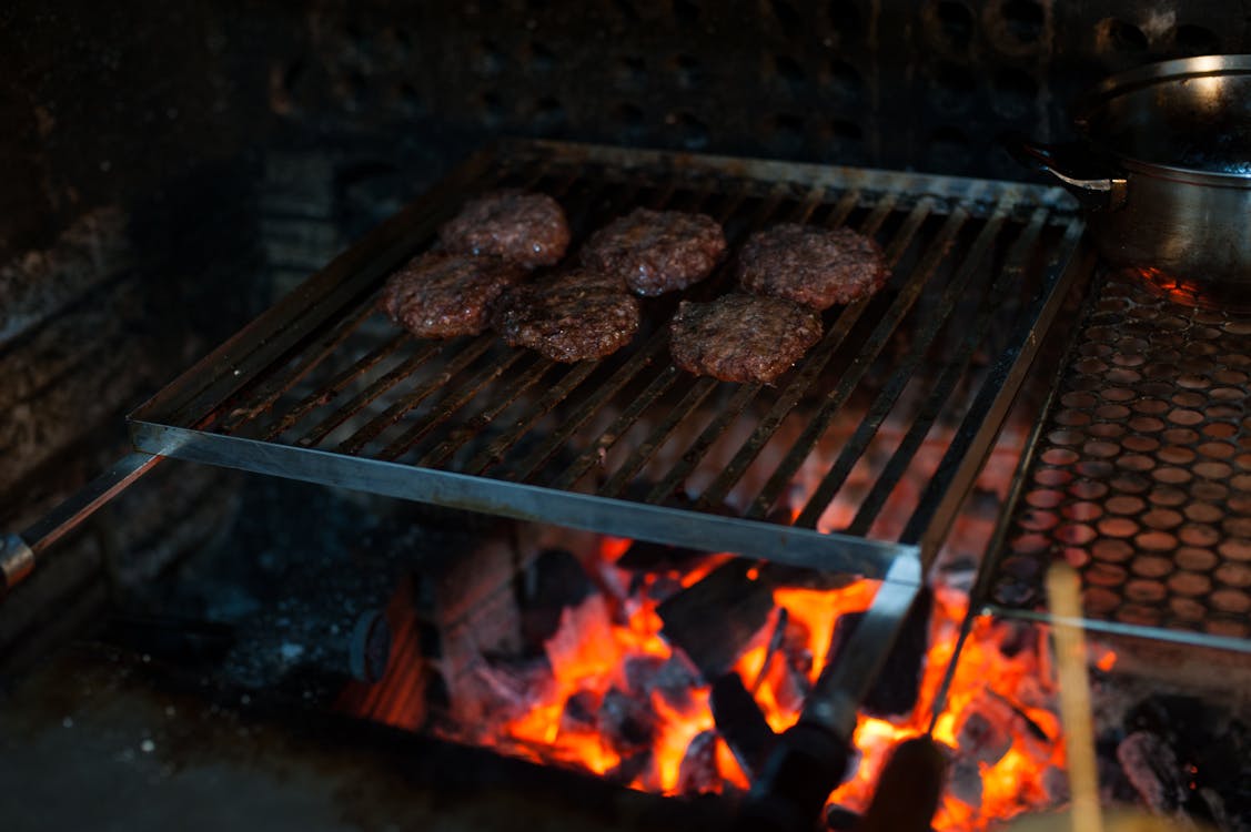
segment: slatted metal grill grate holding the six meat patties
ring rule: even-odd
[[[632,347],[574,365],[492,334],[397,332],[374,312],[385,275],[500,186],[555,196],[574,245],[637,205],[709,213],[732,248],[773,223],[846,224],[877,238],[892,279],[829,310],[777,387],[676,369],[677,297],[643,302]],[[1081,228],[1058,189],[509,143],[158,394],[133,434],[150,453],[882,577],[946,533],[1080,270]]]

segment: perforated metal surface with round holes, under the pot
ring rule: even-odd
[[[1248,639],[1251,318],[1187,308],[1122,273],[1081,327],[991,602],[1035,608],[1047,563],[1065,558],[1088,619]]]

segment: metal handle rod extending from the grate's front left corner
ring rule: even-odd
[[[0,596],[35,568],[35,559],[101,505],[151,470],[164,457],[136,450],[109,467],[21,534],[0,537]]]

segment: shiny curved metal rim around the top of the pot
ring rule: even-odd
[[[1088,130],[1090,119],[1103,108],[1110,100],[1156,84],[1173,81],[1185,78],[1215,78],[1221,75],[1251,75],[1251,54],[1246,55],[1198,55],[1196,58],[1178,58],[1175,60],[1146,64],[1125,73],[1118,73],[1103,79],[1077,99],[1072,108],[1073,125],[1081,133],[1083,140],[1103,153],[1116,159],[1126,170],[1132,170],[1147,176],[1168,179],[1172,181],[1193,183],[1200,185],[1218,185],[1225,188],[1251,186],[1251,171],[1247,173],[1222,173],[1215,170],[1200,170],[1183,165],[1170,165],[1157,161],[1146,161],[1135,156],[1117,151],[1115,148],[1095,139]]]

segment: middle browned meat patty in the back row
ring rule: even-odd
[[[592,234],[582,263],[653,297],[703,280],[724,253],[726,234],[707,214],[637,208]]]

